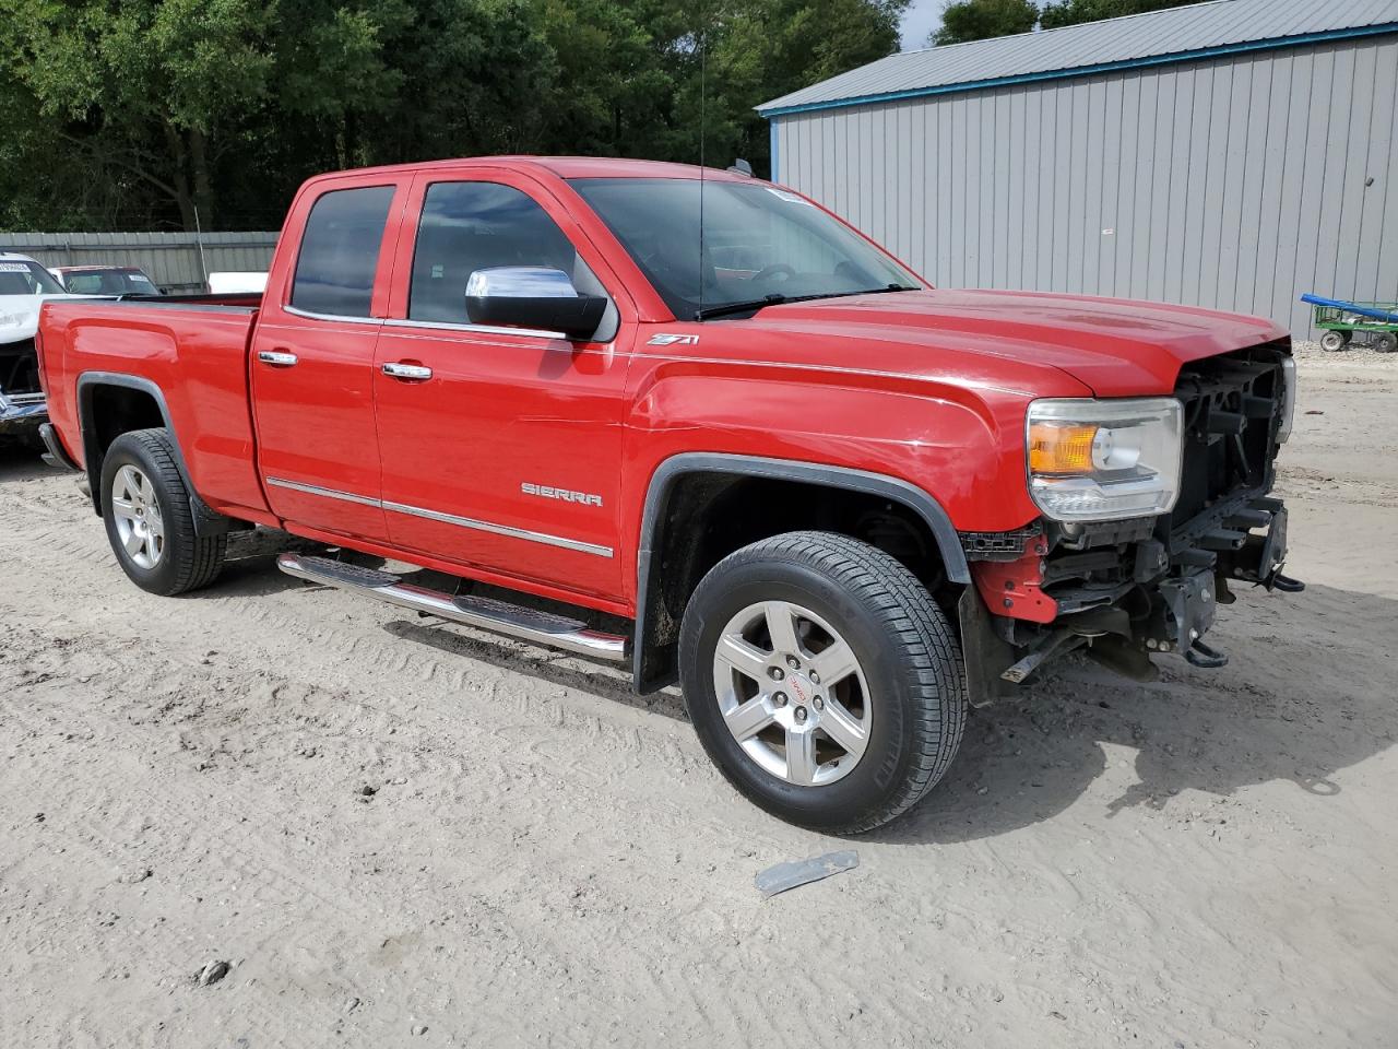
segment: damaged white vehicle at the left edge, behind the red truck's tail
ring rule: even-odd
[[[34,333],[39,306],[67,295],[34,259],[0,252],[0,436],[32,438],[46,418]]]

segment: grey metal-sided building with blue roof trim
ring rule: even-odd
[[[934,284],[1310,331],[1398,301],[1398,0],[1215,0],[905,52],[777,98],[773,178]]]

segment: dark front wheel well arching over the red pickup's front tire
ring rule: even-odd
[[[679,621],[699,580],[735,550],[784,531],[818,529],[863,540],[903,564],[949,614],[948,582],[928,522],[886,495],[776,477],[686,473],[672,483],[651,537],[640,687],[674,680]]]

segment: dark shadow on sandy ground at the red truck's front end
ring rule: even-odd
[[[1135,684],[1086,660],[1065,663],[1028,697],[973,711],[946,778],[868,836],[967,842],[1074,804],[1116,817],[1165,808],[1186,792],[1227,797],[1272,780],[1325,804],[1341,793],[1336,772],[1398,740],[1395,622],[1398,601],[1371,594],[1255,592],[1211,635],[1232,655],[1222,670],[1166,657],[1159,681]]]

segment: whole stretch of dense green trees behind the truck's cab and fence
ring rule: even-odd
[[[0,228],[274,228],[312,172],[435,157],[695,161],[700,104],[709,162],[761,169],[752,106],[896,50],[906,6],[0,0]]]

